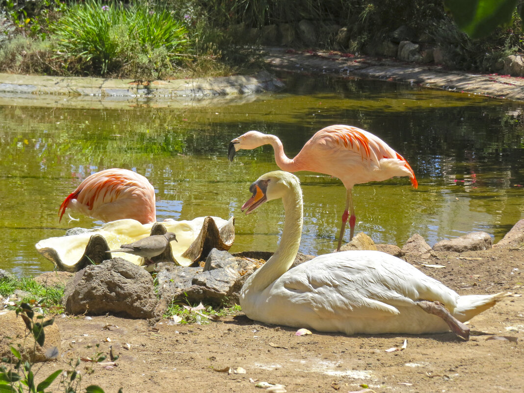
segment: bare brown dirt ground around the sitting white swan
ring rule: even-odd
[[[57,318],[61,352],[57,361],[42,366],[37,381],[57,368],[70,369],[70,359],[94,357],[94,345],[100,344],[98,351],[107,360],[111,347],[119,355],[115,364],[82,361],[78,369],[84,373],[82,386],[97,384],[106,393],[119,388],[261,392],[265,389],[256,387],[260,382],[285,385],[288,392],[358,391],[361,384],[377,393],[524,391],[524,297],[518,296],[524,285],[524,251],[433,252],[429,259],[410,263],[461,294],[510,291],[517,296],[475,316],[467,342],[452,333],[346,336],[313,331],[297,336],[296,329],[254,322],[242,313],[201,325],[162,320],[151,326],[115,316]],[[386,352],[405,340],[404,350]],[[88,375],[90,367],[94,373]],[[53,391],[62,390],[56,385]]]

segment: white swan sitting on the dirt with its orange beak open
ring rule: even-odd
[[[469,329],[459,321],[507,295],[460,296],[407,262],[378,251],[321,255],[288,270],[302,232],[300,182],[291,173],[274,171],[249,190],[253,196],[242,206],[246,214],[278,198],[286,214],[275,254],[242,287],[240,305],[250,319],[345,334],[438,333],[451,328],[467,340]]]

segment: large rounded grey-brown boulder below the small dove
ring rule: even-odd
[[[62,303],[71,314],[112,313],[149,319],[161,314],[153,279],[123,258],[90,265],[75,274],[64,289]]]

